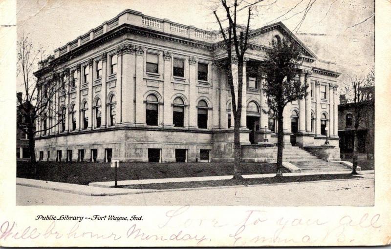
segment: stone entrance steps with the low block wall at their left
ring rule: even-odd
[[[254,158],[255,161],[277,161],[277,147],[269,147],[269,148],[248,148],[249,156],[253,155],[258,158]],[[254,151],[256,150],[256,151]],[[252,151],[252,152],[251,152]],[[261,152],[263,151],[263,152]],[[263,157],[266,156],[266,158]],[[289,162],[296,167],[298,167],[301,172],[351,172],[351,169],[340,163],[340,162],[327,162],[321,158],[318,158],[315,155],[301,149],[299,147],[292,146],[291,148],[286,148],[282,153],[283,161]],[[250,158],[246,158],[246,155],[243,154],[246,161],[251,161]]]

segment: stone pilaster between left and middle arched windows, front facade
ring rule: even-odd
[[[171,89],[171,53],[165,51],[163,53],[164,59],[164,83],[163,83],[163,98],[164,106],[163,112],[163,127],[173,127],[173,107],[171,103],[172,89]]]

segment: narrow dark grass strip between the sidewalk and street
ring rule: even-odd
[[[335,180],[335,179],[360,179],[360,175],[347,174],[315,174],[315,175],[300,175],[300,176],[283,176],[283,177],[266,177],[266,178],[251,178],[240,181],[233,179],[215,180],[215,181],[197,181],[197,182],[175,182],[175,183],[155,183],[155,184],[140,184],[140,185],[125,185],[119,186],[126,189],[145,189],[145,190],[170,190],[170,189],[186,189],[186,188],[203,188],[203,187],[222,187],[222,186],[239,186],[239,185],[258,185],[286,182],[310,182],[320,180]]]

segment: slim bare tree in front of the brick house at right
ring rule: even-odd
[[[353,108],[354,145],[352,174],[357,173],[359,129],[363,124],[368,123],[368,115],[373,112],[370,109],[374,108],[374,96],[367,94],[368,91],[364,89],[374,87],[374,85],[374,68],[369,71],[366,77],[354,76],[351,77],[350,81],[344,83],[347,102],[351,103]]]

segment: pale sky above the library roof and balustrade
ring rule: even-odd
[[[308,4],[311,8],[297,29]],[[53,54],[54,49],[125,9],[217,30],[212,13],[216,6],[219,6],[217,0],[18,0],[17,32],[18,37],[28,34],[36,47],[42,45],[48,54]],[[282,21],[319,58],[337,63],[337,71],[343,74],[340,81],[353,75],[365,75],[374,65],[372,0],[263,0],[256,6],[251,28]],[[296,8],[289,11],[294,6]],[[221,8],[217,8],[217,14],[224,17]],[[246,14],[246,11],[239,12],[239,22],[246,22]],[[21,78],[18,77],[17,82],[19,87]]]

